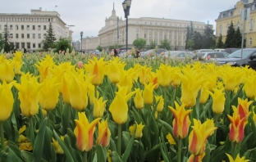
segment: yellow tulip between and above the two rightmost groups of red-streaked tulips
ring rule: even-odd
[[[209,92],[209,94],[213,97],[213,112],[217,115],[221,114],[225,107],[225,93],[223,89],[213,88],[213,92]]]

